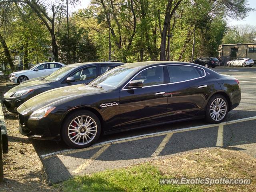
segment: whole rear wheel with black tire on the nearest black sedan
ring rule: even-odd
[[[220,101],[219,104],[218,104],[218,100]],[[214,105],[216,106],[216,108],[214,108]],[[224,121],[226,116],[228,115],[228,107],[229,107],[228,101],[224,96],[219,94],[212,96],[206,106],[206,114],[205,114],[206,122],[217,124]],[[216,114],[215,116],[214,116],[214,113]]]

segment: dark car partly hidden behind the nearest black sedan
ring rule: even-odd
[[[28,80],[10,89],[4,94],[3,103],[7,110],[16,112],[18,106],[47,90],[58,87],[88,83],[97,76],[124,63],[90,62],[66,65],[44,78]]]

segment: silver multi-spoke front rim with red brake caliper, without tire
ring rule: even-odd
[[[96,121],[90,116],[78,116],[68,126],[68,137],[77,145],[90,143],[97,133]]]

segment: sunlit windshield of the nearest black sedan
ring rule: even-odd
[[[130,68],[124,66],[116,67],[102,74],[101,76],[90,82],[88,85],[117,88],[118,86],[126,82],[136,70],[137,68]]]

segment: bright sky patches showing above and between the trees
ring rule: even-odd
[[[256,9],[256,0],[249,0],[248,1],[251,8]],[[81,8],[86,8],[90,4],[90,0],[81,0],[81,5],[76,6],[75,8],[72,8],[72,11],[76,11]],[[228,19],[228,24],[231,25],[239,25],[239,24],[250,24],[250,25],[256,25],[256,11],[250,12],[248,14],[248,17],[244,20],[234,20],[234,19]]]

